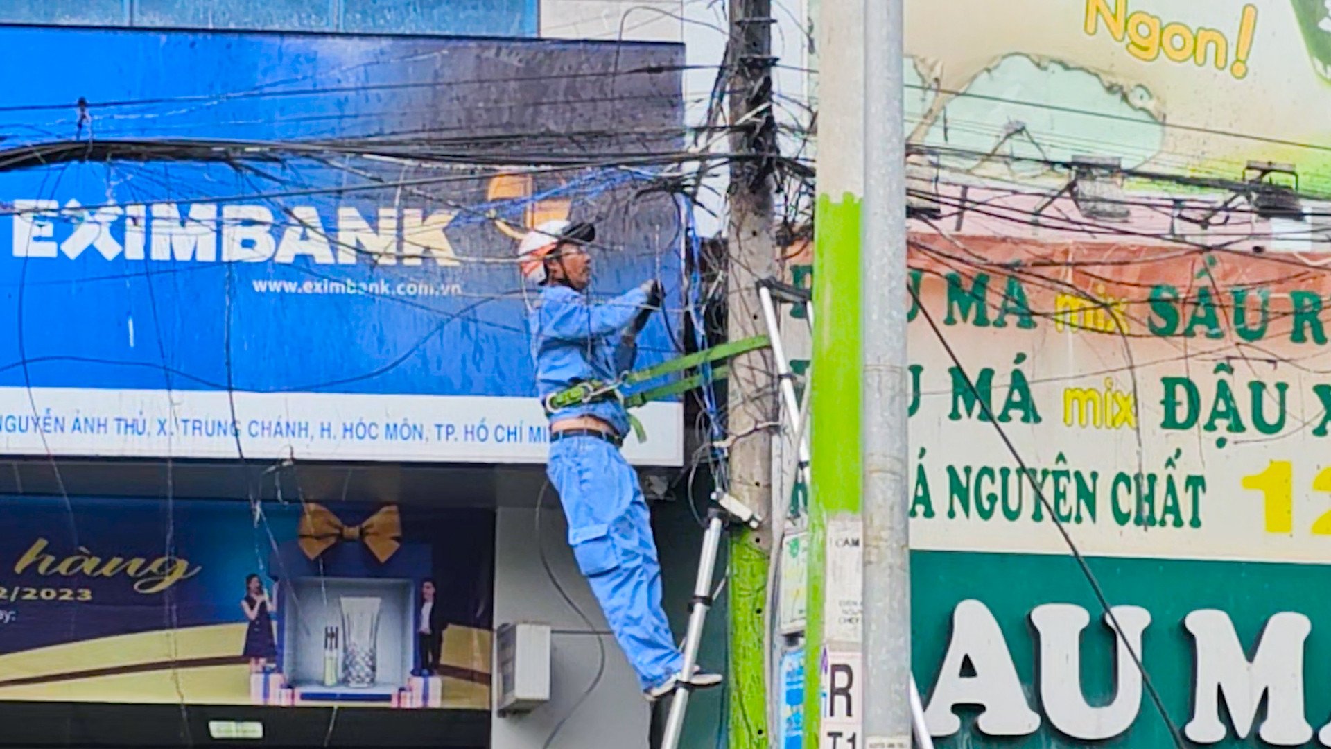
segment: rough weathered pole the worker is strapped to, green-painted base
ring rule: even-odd
[[[773,235],[772,164],[776,120],[772,113],[771,0],[731,0],[729,80],[731,149],[729,253],[727,261],[727,336],[732,341],[767,332],[756,283],[777,273]],[[768,349],[731,367],[727,429],[731,494],[763,517],[757,530],[733,536],[729,548],[729,737],[733,749],[767,749],[764,689],[764,592],[771,582],[772,429],[777,421],[775,364]]]

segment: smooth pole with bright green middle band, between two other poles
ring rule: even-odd
[[[817,205],[809,438],[809,601],[804,745],[865,749],[860,516],[861,216],[865,5],[823,0],[817,19]],[[862,287],[865,293],[886,289]],[[874,336],[886,335],[872,331]]]

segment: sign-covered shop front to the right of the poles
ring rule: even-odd
[[[1320,1],[906,1],[936,745],[1331,740],[1328,44]]]

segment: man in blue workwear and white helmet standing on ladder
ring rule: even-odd
[[[616,390],[551,409],[550,396],[591,380],[614,382],[636,356],[636,337],[663,300],[647,281],[604,304],[584,292],[591,283],[586,223],[547,221],[518,248],[523,279],[538,284],[530,331],[536,389],[550,418],[547,473],[568,520],[568,544],[600,602],[620,649],[648,701],[681,686],[684,657],[662,609],[660,564],[638,473],[619,449],[630,429]],[[720,684],[693,669],[684,686]]]

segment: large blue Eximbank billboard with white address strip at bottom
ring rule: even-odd
[[[595,221],[595,293],[677,299],[676,45],[0,27],[33,60],[0,92],[0,452],[539,461],[523,232]],[[626,452],[677,464],[679,404],[643,421]]]

